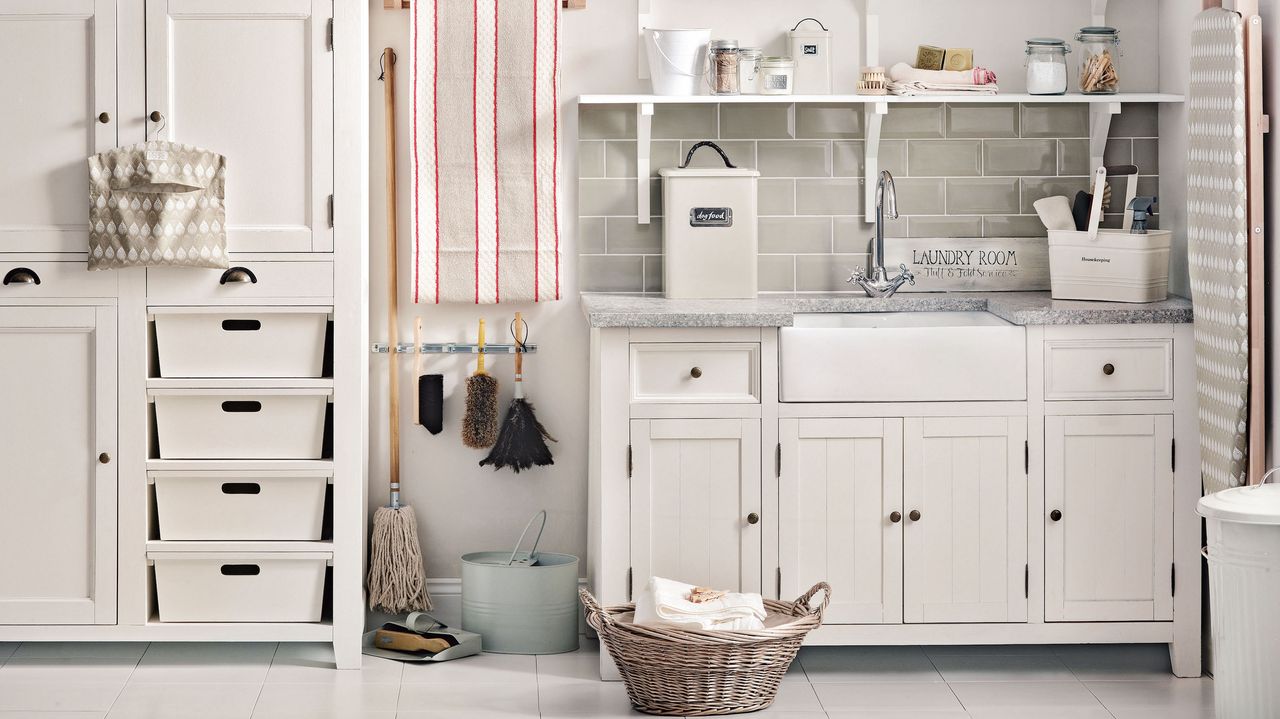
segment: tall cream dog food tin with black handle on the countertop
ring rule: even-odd
[[[701,147],[719,152],[723,168],[689,162]],[[756,294],[756,178],[735,168],[713,142],[699,142],[680,168],[662,175],[663,288],[673,299],[754,299]]]

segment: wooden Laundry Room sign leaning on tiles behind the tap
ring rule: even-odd
[[[911,292],[1050,288],[1048,241],[1043,237],[884,239],[884,266],[900,264],[915,275]]]

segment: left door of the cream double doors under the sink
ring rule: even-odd
[[[901,622],[902,420],[782,420],[780,436],[782,596],[826,581],[828,623]]]

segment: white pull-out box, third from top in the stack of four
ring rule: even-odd
[[[152,472],[165,541],[319,541],[323,472]]]

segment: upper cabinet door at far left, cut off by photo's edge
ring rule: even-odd
[[[84,252],[86,157],[116,142],[115,0],[0,3],[0,252]]]

